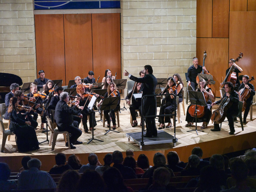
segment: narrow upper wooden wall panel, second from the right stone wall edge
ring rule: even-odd
[[[229,0],[213,0],[212,10],[212,37],[228,38]]]

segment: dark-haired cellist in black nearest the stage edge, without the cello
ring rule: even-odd
[[[239,102],[239,96],[237,92],[234,91],[234,85],[231,82],[226,82],[224,84],[226,93],[221,98],[221,100],[225,99],[226,96],[230,98],[230,100],[233,102],[232,105],[227,110],[227,119],[229,124],[230,132],[229,135],[234,135],[235,128],[234,128],[234,121],[233,116],[238,114],[238,102]],[[218,100],[216,102],[212,103],[212,106],[219,104],[221,100]],[[220,131],[220,125],[214,123],[214,129],[211,129],[211,131]]]

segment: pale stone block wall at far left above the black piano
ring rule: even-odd
[[[33,0],[0,0],[0,72],[12,73],[23,83],[36,77]]]

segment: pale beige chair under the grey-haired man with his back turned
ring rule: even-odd
[[[67,140],[68,140],[68,148],[70,149],[69,132],[67,132],[67,131],[59,131],[58,129],[55,129],[56,126],[55,127],[53,126],[52,120],[49,118],[49,116],[46,116],[46,119],[47,119],[47,123],[48,123],[49,129],[51,131],[50,140],[49,140],[49,146],[51,146],[51,143],[52,143],[52,151],[54,150],[58,134],[62,134],[62,133],[64,133],[64,140],[65,140],[65,138],[67,138]],[[66,143],[66,141],[65,141],[65,143]]]

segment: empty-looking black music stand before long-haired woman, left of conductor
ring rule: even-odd
[[[108,98],[105,98],[102,102],[100,110],[101,111],[109,110],[109,130],[106,130],[106,133],[104,135],[106,135],[110,131],[120,133],[118,131],[110,130],[110,127],[111,127],[110,126],[111,125],[111,119],[110,119],[111,118],[111,115],[110,115],[111,109],[116,108],[118,101],[119,101],[119,97],[108,97]]]

